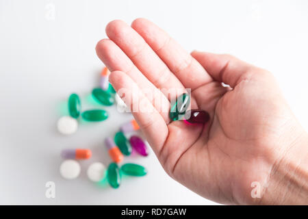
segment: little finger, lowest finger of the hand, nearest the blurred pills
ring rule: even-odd
[[[159,154],[168,136],[168,127],[164,118],[157,112],[149,99],[144,96],[136,82],[126,73],[119,70],[112,72],[110,83],[112,83],[116,92],[121,91],[124,94],[125,99],[123,100],[125,103],[129,103],[128,107],[131,108],[133,117],[146,136],[146,140],[149,141],[153,151]]]

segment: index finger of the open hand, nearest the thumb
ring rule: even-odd
[[[185,88],[192,90],[212,81],[205,69],[165,31],[144,18],[131,24]]]

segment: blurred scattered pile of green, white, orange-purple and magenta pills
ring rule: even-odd
[[[114,88],[108,81],[110,71],[105,67],[101,73],[100,88],[92,90],[93,99],[101,105],[110,106],[114,102],[118,104],[118,109],[125,111],[127,106],[116,94]],[[71,135],[78,129],[78,119],[88,122],[101,122],[109,116],[106,110],[86,110],[81,112],[81,101],[78,94],[70,94],[68,97],[69,116],[62,116],[57,121],[57,130],[64,135]],[[149,149],[144,140],[139,136],[132,135],[129,139],[127,136],[139,128],[136,120],[131,120],[123,124],[114,136],[110,136],[103,140],[106,153],[109,153],[112,163],[106,168],[101,162],[90,164],[87,170],[88,179],[94,182],[100,182],[107,177],[108,183],[112,188],[118,188],[121,183],[122,175],[133,177],[142,177],[146,175],[147,170],[139,164],[122,164],[125,156],[131,155],[132,150],[141,156],[149,155]],[[76,179],[81,172],[81,166],[78,160],[90,159],[92,151],[90,149],[64,149],[61,151],[61,157],[64,159],[60,166],[60,174],[64,179]]]

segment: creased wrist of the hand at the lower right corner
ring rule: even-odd
[[[308,135],[303,132],[272,166],[261,205],[308,205]]]

